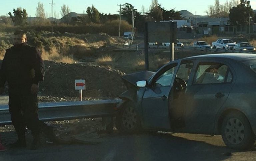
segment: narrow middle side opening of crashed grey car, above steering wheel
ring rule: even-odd
[[[187,62],[187,63],[181,64],[178,69],[176,77],[181,78],[188,83],[188,79],[189,79],[192,68],[193,68],[193,62]]]

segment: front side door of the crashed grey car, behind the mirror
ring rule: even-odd
[[[142,98],[146,129],[170,129],[168,95],[172,90],[177,64],[166,66],[152,79]]]

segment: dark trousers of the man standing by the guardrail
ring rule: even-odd
[[[37,113],[38,99],[36,94],[9,91],[9,111],[18,136],[19,134],[25,134],[26,126],[33,135],[39,134],[40,124]]]

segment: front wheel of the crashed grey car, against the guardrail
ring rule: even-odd
[[[141,123],[132,101],[124,104],[116,118],[117,129],[121,132],[136,133],[141,131]]]

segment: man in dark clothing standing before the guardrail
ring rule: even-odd
[[[27,45],[26,33],[14,33],[14,46],[6,50],[0,69],[0,93],[5,82],[9,89],[9,111],[18,140],[12,147],[26,147],[25,126],[31,130],[33,142],[31,149],[40,143],[37,91],[40,81],[44,80],[45,66],[40,53]]]

